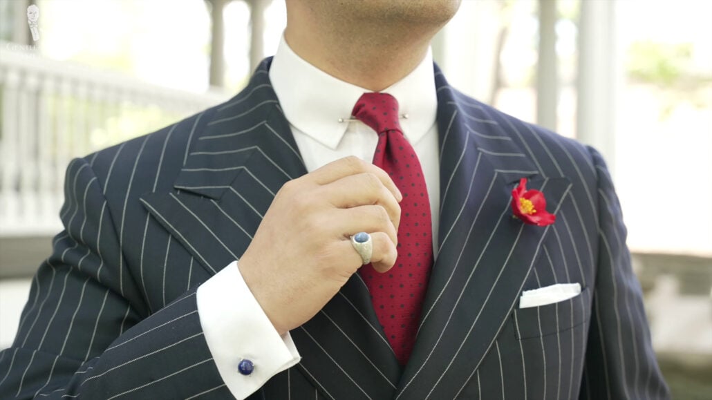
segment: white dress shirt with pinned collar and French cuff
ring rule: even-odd
[[[269,71],[308,172],[342,157],[372,161],[378,136],[360,121],[347,120],[356,101],[369,92],[338,80],[300,58],[282,38]],[[405,78],[383,90],[399,102],[400,123],[420,159],[430,197],[433,253],[437,252],[440,206],[437,95],[429,50]],[[297,364],[300,355],[289,335],[278,335],[231,263],[198,288],[198,314],[205,340],[227,388],[244,399],[278,372]],[[254,371],[238,372],[241,359]]]

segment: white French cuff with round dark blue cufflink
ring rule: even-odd
[[[220,377],[237,399],[301,359],[289,332],[280,336],[255,300],[237,261],[199,286],[197,304]]]

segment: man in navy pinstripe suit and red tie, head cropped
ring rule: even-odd
[[[667,398],[600,155],[433,67],[459,1],[286,3],[235,98],[70,164],[3,396]]]

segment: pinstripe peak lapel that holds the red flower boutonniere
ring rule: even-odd
[[[513,219],[520,177],[555,213],[566,179],[539,173],[501,117],[456,93],[436,72],[441,144],[439,252],[413,354],[397,399],[454,399],[518,299],[548,227]]]

